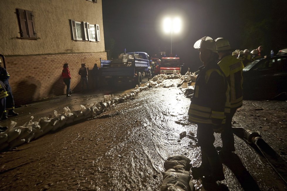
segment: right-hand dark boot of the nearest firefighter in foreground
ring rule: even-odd
[[[203,181],[216,182],[224,180],[225,176],[223,173],[223,166],[219,155],[217,154],[216,156],[208,157],[208,161],[210,164],[211,173],[207,176],[204,176]]]

